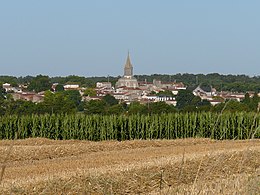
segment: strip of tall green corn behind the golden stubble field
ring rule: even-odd
[[[0,139],[56,140],[260,138],[260,114],[174,113],[161,115],[31,115],[0,117]]]

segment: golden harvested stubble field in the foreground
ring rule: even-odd
[[[36,138],[0,157],[0,194],[260,194],[260,140]]]

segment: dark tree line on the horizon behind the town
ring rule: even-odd
[[[79,84],[83,87],[94,87],[96,82],[110,81],[114,84],[119,76],[113,77],[82,77],[82,76],[67,76],[67,77],[48,77],[38,75],[36,77],[13,77],[13,76],[0,76],[0,84],[10,83],[12,86],[19,84],[28,85],[28,90],[45,91],[50,89],[51,83],[60,84]],[[139,81],[152,82],[153,79],[161,81],[176,81],[183,82],[189,89],[194,89],[198,85],[205,85],[206,87],[215,87],[218,91],[236,91],[247,92],[255,91],[260,92],[260,76],[249,77],[246,75],[221,75],[218,73],[212,74],[175,74],[175,75],[136,75]]]

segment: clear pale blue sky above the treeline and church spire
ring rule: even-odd
[[[259,0],[0,1],[0,75],[260,75]]]

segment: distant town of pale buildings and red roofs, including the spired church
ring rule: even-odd
[[[140,102],[141,104],[153,102],[165,102],[169,105],[176,106],[177,100],[175,96],[180,90],[186,90],[187,86],[182,82],[161,81],[153,79],[152,82],[138,81],[133,76],[133,65],[128,53],[126,63],[124,65],[124,75],[117,80],[113,86],[111,82],[96,82],[93,93],[84,93],[87,88],[81,87],[79,84],[62,85],[63,90],[77,90],[80,92],[82,101],[101,100],[106,95],[113,96],[119,102],[130,104],[131,102]],[[55,93],[59,87],[59,83],[52,83],[51,91]],[[14,100],[26,100],[34,103],[40,103],[44,100],[45,91],[35,92],[28,91],[26,85],[12,86],[10,83],[3,83],[2,88],[10,93]],[[167,93],[164,93],[167,92]],[[169,93],[170,92],[170,93]],[[233,92],[233,91],[217,91],[216,88],[210,86],[208,90],[198,85],[192,90],[193,95],[198,96],[201,100],[207,100],[212,106],[223,103],[227,100],[235,100],[241,102],[248,93],[249,97],[253,97],[255,91]],[[258,93],[258,96],[260,93]]]

